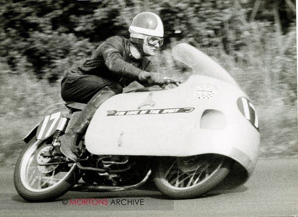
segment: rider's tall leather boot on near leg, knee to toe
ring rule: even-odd
[[[81,136],[84,135],[94,113],[97,108],[108,98],[114,96],[116,93],[109,87],[104,87],[98,91],[86,104],[80,112],[77,120],[75,120],[71,129],[67,130],[64,135],[59,138],[60,151],[69,159],[76,161],[78,156],[78,143]]]

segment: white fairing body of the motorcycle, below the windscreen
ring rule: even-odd
[[[209,93],[213,92],[212,96],[204,93],[204,88]],[[260,136],[239,111],[237,99],[240,96],[245,94],[238,87],[201,75],[192,75],[174,89],[113,96],[102,104],[91,120],[85,137],[86,148],[93,154],[117,155],[190,156],[218,153],[240,161],[251,172],[257,160]],[[151,105],[146,105],[150,102]],[[138,110],[175,112],[177,108],[194,110],[134,115],[140,113]],[[219,128],[210,126],[206,129],[208,126],[201,125],[206,109],[224,114]],[[126,111],[125,114],[131,115],[112,112],[120,115],[107,116],[108,111],[113,110]]]

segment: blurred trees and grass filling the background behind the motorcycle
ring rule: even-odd
[[[139,12],[160,15],[165,45],[153,58],[172,69],[187,42],[220,63],[253,101],[260,156],[298,155],[294,0],[6,0],[0,2],[0,163],[13,165],[26,133],[62,109],[63,73],[103,40],[128,37]],[[291,4],[292,3],[292,4]]]

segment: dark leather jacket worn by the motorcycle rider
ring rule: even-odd
[[[94,53],[81,66],[67,72],[92,74],[118,81],[127,86],[134,80],[139,81],[142,71],[156,72],[147,57],[137,60],[130,52],[131,42],[121,36],[113,36],[97,47]]]

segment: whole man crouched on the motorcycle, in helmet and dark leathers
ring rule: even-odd
[[[79,138],[105,100],[122,93],[122,88],[132,81],[146,86],[165,83],[147,58],[155,56],[163,44],[163,25],[159,16],[152,12],[139,13],[129,32],[129,40],[121,36],[108,38],[84,64],[66,72],[62,79],[61,96],[65,101],[87,103],[71,129],[59,138],[61,152],[71,160],[77,160]]]

